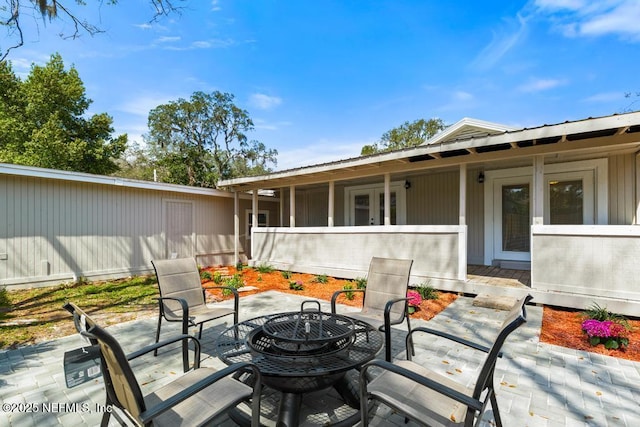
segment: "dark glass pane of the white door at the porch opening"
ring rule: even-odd
[[[502,251],[529,252],[529,184],[502,186]]]

